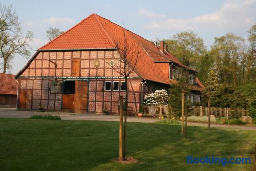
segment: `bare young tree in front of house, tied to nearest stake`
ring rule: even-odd
[[[126,159],[126,142],[127,142],[127,114],[128,114],[128,79],[131,74],[134,72],[138,61],[145,54],[145,52],[139,50],[139,42],[129,42],[127,39],[128,31],[125,28],[122,28],[123,33],[123,42],[114,41],[114,44],[117,48],[117,52],[120,57],[112,55],[114,60],[118,60],[121,65],[112,66],[113,70],[120,74],[121,77],[125,79],[126,90],[125,90],[125,102],[124,102],[124,142],[123,142],[123,158]]]

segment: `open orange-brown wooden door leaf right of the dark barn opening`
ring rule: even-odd
[[[85,113],[87,111],[88,101],[88,83],[85,81],[75,82],[75,100],[74,109],[76,113]]]

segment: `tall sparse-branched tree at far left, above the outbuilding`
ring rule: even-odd
[[[22,27],[18,16],[12,7],[0,5],[0,58],[3,58],[3,73],[11,68],[14,55],[18,54],[27,58],[30,55],[29,42],[32,41],[33,32],[28,31],[22,35]]]

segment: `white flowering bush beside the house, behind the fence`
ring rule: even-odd
[[[154,93],[146,94],[144,97],[144,104],[146,105],[168,104],[167,91],[162,89],[162,90],[156,90]]]

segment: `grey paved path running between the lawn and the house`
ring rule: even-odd
[[[0,118],[29,118],[30,115],[34,113],[45,114],[48,112],[17,111],[15,108],[0,108]],[[96,113],[77,114],[77,113],[68,113],[68,112],[50,112],[50,113],[53,115],[54,114],[60,115],[62,120],[119,121],[119,116],[117,115],[103,115],[103,114],[96,114]],[[160,119],[150,118],[150,117],[135,117],[135,116],[128,116],[127,118],[128,122],[142,122],[142,123],[154,123],[157,120],[160,120]],[[208,123],[188,122],[188,126],[207,127]],[[211,127],[256,131],[256,127],[252,127],[252,126],[211,124]]]

